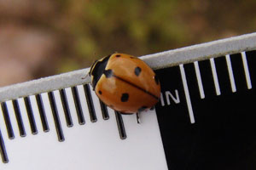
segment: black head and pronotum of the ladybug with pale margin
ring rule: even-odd
[[[93,90],[96,88],[96,83],[102,77],[103,72],[105,71],[106,65],[108,64],[108,59],[112,54],[104,57],[102,59],[96,60],[93,65],[90,67],[89,76],[91,78],[91,86]]]

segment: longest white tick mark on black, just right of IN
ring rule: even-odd
[[[187,83],[186,74],[185,74],[183,65],[179,65],[179,69],[180,69],[182,80],[183,80],[183,88],[184,88],[184,93],[185,93],[185,97],[186,97],[186,101],[187,101],[187,106],[189,109],[190,122],[195,123],[194,112],[193,112],[192,105],[191,105],[189,88],[188,88],[188,83]]]

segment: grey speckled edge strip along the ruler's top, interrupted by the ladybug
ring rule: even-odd
[[[156,54],[148,54],[141,56],[140,59],[143,59],[143,61],[154,70],[158,70],[174,65],[215,58],[224,56],[225,54],[241,53],[253,49],[256,49],[256,32],[205,42],[185,48],[172,49]],[[70,71],[60,75],[44,77],[0,88],[0,102],[88,83],[90,82],[90,77],[86,77],[85,79],[83,77],[85,77],[89,70],[90,68]]]

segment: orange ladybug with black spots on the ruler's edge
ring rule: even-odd
[[[96,60],[89,76],[99,99],[123,114],[146,111],[160,99],[160,82],[154,71],[129,54]]]

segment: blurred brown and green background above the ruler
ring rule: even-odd
[[[0,0],[0,87],[256,30],[255,0]]]

